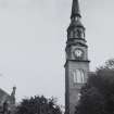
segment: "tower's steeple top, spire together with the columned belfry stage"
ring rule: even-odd
[[[67,28],[68,39],[85,40],[85,27],[81,24],[80,18],[81,18],[81,15],[80,15],[80,10],[79,10],[79,2],[78,0],[73,0],[71,24]]]

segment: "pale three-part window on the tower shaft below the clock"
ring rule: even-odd
[[[83,69],[75,69],[73,72],[73,78],[75,84],[84,84],[85,83],[85,74]]]

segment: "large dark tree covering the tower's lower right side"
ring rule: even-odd
[[[75,114],[114,114],[114,60],[99,67],[80,93]]]

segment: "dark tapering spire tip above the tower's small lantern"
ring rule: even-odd
[[[77,16],[81,17],[80,10],[79,10],[79,2],[78,0],[73,0],[71,18],[77,17]]]

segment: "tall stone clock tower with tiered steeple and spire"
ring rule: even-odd
[[[73,0],[71,24],[67,28],[65,63],[65,113],[74,114],[79,90],[87,81],[89,72],[88,46],[78,0]]]

